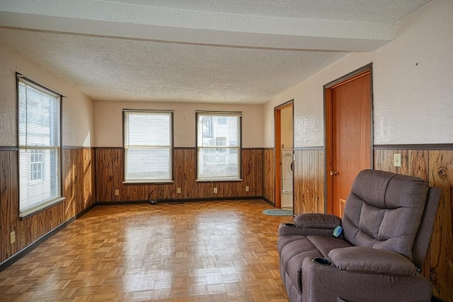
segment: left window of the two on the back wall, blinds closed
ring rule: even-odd
[[[173,112],[124,110],[125,182],[171,182]]]

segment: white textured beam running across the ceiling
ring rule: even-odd
[[[202,45],[340,52],[374,51],[394,38],[394,26],[389,23],[248,16],[103,1],[26,4],[2,3],[0,26]]]

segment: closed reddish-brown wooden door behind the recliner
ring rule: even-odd
[[[327,211],[340,216],[355,176],[372,168],[371,66],[325,92]]]

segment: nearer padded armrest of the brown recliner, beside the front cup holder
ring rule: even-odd
[[[392,276],[414,276],[417,272],[411,260],[393,250],[351,246],[331,250],[328,258],[338,269],[350,272]]]

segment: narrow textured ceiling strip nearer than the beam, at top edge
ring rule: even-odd
[[[428,1],[401,0],[105,0],[117,4],[135,4],[189,11],[236,13],[275,18],[304,18],[395,23],[408,9]]]

